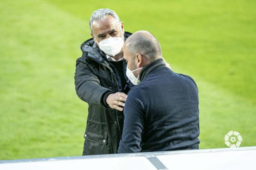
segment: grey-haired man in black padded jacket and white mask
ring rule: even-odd
[[[75,88],[88,103],[83,155],[117,153],[123,130],[123,106],[132,83],[126,77],[123,44],[131,35],[109,9],[90,18],[91,35],[76,61]]]

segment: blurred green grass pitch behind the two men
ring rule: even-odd
[[[150,31],[173,71],[197,82],[201,149],[227,147],[231,130],[256,145],[255,0],[0,0],[0,160],[81,155],[75,62],[98,8]]]

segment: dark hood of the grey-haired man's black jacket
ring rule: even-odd
[[[130,35],[130,32],[125,31],[125,41]],[[88,56],[99,62],[104,62],[104,60],[106,60],[106,55],[99,49],[93,38],[90,38],[81,44],[81,51],[83,52],[83,56]]]

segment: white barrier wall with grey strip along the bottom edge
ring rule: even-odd
[[[0,170],[256,170],[256,146],[2,160]]]

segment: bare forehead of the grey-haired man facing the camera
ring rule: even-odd
[[[94,20],[92,22],[93,32],[107,31],[108,29],[116,29],[119,26],[119,22],[111,15],[108,15],[103,20]]]

